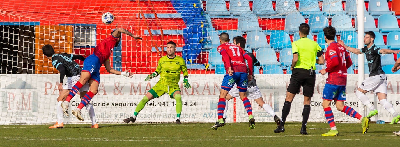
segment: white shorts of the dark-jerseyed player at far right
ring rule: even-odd
[[[366,91],[374,91],[375,93],[388,94],[388,77],[386,74],[378,74],[376,76],[369,76],[361,83],[360,88]]]

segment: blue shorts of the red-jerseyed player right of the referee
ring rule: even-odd
[[[346,86],[325,84],[324,91],[322,91],[322,98],[324,100],[344,102],[346,101]]]

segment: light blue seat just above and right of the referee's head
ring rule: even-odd
[[[308,24],[313,33],[320,32],[322,29],[329,26],[328,18],[323,14],[311,14],[308,18]]]

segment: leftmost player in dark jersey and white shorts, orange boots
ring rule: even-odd
[[[51,45],[44,45],[42,47],[43,54],[47,59],[52,61],[52,65],[58,71],[60,71],[60,84],[58,84],[58,90],[60,90],[60,96],[57,98],[57,122],[56,124],[50,126],[50,129],[53,128],[63,128],[63,115],[64,111],[62,110],[61,103],[66,99],[72,86],[76,82],[78,82],[80,78],[80,72],[82,71],[82,67],[78,65],[74,60],[79,59],[81,61],[85,60],[85,57],[82,55],[74,55],[68,53],[56,54]],[[66,83],[63,86],[64,76],[67,76]],[[84,85],[80,90],[80,98],[82,100],[83,96],[85,96],[86,92],[89,90],[89,85]],[[94,114],[94,109],[92,104],[86,105],[86,109],[88,110],[90,119],[92,120],[92,128],[97,128],[98,124],[96,123],[96,118]]]

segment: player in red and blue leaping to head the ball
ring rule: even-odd
[[[96,45],[94,48],[94,52],[92,55],[88,56],[84,63],[82,73],[80,74],[80,79],[76,84],[72,87],[70,94],[66,98],[65,102],[62,103],[62,108],[64,110],[64,114],[69,116],[68,114],[68,106],[71,98],[75,96],[78,90],[87,82],[89,82],[89,92],[86,93],[83,100],[78,105],[78,108],[72,110],[72,114],[78,118],[78,120],[83,121],[83,118],[80,114],[80,110],[89,104],[90,100],[92,100],[93,96],[97,94],[98,86],[100,82],[100,67],[104,64],[106,71],[112,74],[120,74],[127,77],[132,77],[133,74],[129,73],[130,69],[120,72],[111,68],[110,65],[110,56],[114,47],[119,45],[121,39],[121,33],[129,35],[134,39],[143,39],[137,35],[130,33],[128,30],[123,28],[117,28],[115,31],[112,31],[111,35],[100,42],[100,44]]]

